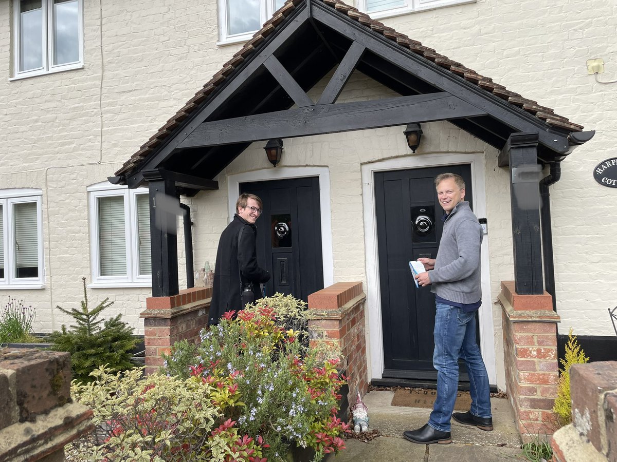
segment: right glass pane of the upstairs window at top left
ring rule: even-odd
[[[54,64],[79,61],[77,0],[54,0]]]

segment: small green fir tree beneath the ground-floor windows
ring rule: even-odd
[[[91,371],[107,365],[115,371],[124,371],[133,367],[131,350],[138,340],[133,337],[133,328],[120,320],[121,314],[114,318],[99,318],[101,312],[114,302],[104,299],[96,308],[89,309],[86,293],[86,278],[83,283],[83,301],[81,308],[57,309],[75,320],[76,325],[68,329],[63,324],[61,331],[54,331],[50,338],[55,351],[67,351],[71,354],[73,378],[80,382],[89,381]]]

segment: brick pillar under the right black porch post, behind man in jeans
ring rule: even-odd
[[[513,281],[502,282],[503,346],[508,399],[523,442],[552,434],[557,397],[557,322],[552,297],[519,295]]]

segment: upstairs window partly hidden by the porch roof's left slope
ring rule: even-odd
[[[221,43],[247,41],[285,0],[218,0]]]

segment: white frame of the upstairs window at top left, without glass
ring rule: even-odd
[[[13,77],[9,79],[18,80],[38,75],[52,74],[56,72],[68,71],[83,68],[83,0],[77,0],[77,21],[78,21],[78,49],[79,60],[72,63],[57,64],[52,62],[54,53],[54,28],[53,28],[53,1],[41,0],[43,9],[43,21],[41,35],[43,37],[43,66],[38,69],[22,71],[20,65],[20,0],[12,0],[13,7]]]

